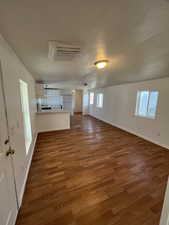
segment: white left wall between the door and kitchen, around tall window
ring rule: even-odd
[[[35,81],[27,71],[23,63],[16,56],[8,43],[0,35],[0,63],[4,79],[5,97],[7,100],[7,112],[9,120],[9,133],[11,146],[16,150],[13,156],[17,181],[19,203],[22,200],[26,174],[33,153],[33,143],[29,154],[26,155],[24,144],[24,130],[21,112],[19,79],[24,80],[29,88],[30,112],[33,140],[36,137],[36,99]]]

